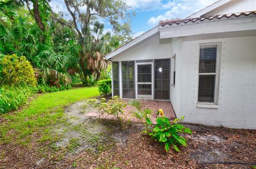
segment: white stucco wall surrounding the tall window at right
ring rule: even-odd
[[[218,108],[197,107],[199,44],[221,43]],[[182,43],[179,116],[185,122],[256,128],[256,36]],[[179,94],[179,93],[178,93]]]

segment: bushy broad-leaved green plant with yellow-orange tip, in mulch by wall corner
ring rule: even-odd
[[[161,116],[159,116],[159,114],[161,114]],[[181,136],[181,133],[192,133],[189,128],[180,124],[183,118],[184,116],[182,116],[181,119],[176,118],[173,122],[170,122],[170,120],[164,116],[163,110],[159,109],[156,119],[157,124],[154,125],[152,122],[148,122],[148,124],[154,126],[149,135],[155,140],[163,142],[166,151],[169,151],[170,146],[172,146],[175,151],[179,152],[178,146],[187,146],[187,141]]]

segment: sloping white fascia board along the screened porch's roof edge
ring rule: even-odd
[[[117,50],[110,52],[109,54],[105,55],[105,59],[110,59],[112,57],[114,57],[115,55],[130,49],[130,47],[137,45],[138,43],[142,42],[143,40],[145,40],[146,38],[158,33],[159,31],[159,27],[156,26],[152,29],[150,29],[149,31],[147,31],[146,33],[142,34],[141,36],[138,36],[137,38],[133,39],[131,42],[126,43],[125,45],[119,47]]]

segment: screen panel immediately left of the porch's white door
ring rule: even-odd
[[[123,98],[135,99],[134,61],[122,61]]]

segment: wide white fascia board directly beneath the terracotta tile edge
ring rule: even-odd
[[[159,37],[172,38],[191,35],[225,33],[231,31],[255,30],[256,17],[237,18],[218,21],[204,21],[183,26],[167,27],[159,29]]]

